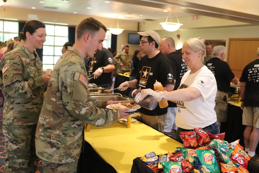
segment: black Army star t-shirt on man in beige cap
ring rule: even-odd
[[[174,85],[173,70],[170,61],[166,56],[159,52],[155,57],[148,58],[147,55],[141,58],[135,79],[138,79],[137,89],[153,89],[156,80],[163,86],[167,84]],[[139,112],[146,115],[164,115],[166,108],[160,108],[159,104],[154,110],[148,110],[141,107]]]

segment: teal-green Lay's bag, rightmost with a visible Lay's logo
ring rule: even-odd
[[[196,150],[196,153],[200,161],[200,167],[204,169],[206,173],[220,172],[214,151],[203,149]]]

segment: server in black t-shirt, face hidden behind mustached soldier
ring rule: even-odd
[[[94,74],[94,78],[89,81],[105,89],[112,89],[112,71],[115,70],[115,62],[111,51],[102,47],[87,64],[90,67],[88,75]]]

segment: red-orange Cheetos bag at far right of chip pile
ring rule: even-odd
[[[243,147],[238,143],[231,155],[231,160],[235,164],[240,164],[244,168],[247,168],[248,161],[250,160],[250,156],[243,150]]]

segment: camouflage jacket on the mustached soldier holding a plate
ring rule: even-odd
[[[90,97],[86,79],[84,58],[68,47],[54,67],[41,109],[36,130],[39,158],[75,162],[81,152],[84,123],[107,126],[119,119],[118,109],[102,109],[107,102]]]

